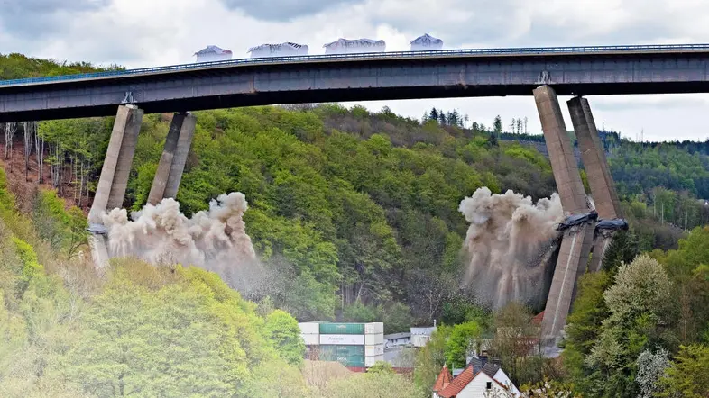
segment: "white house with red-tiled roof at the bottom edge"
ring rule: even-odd
[[[441,383],[438,384],[438,379]],[[467,366],[449,384],[441,388],[447,379],[447,367],[441,370],[434,384],[433,398],[483,398],[486,393],[511,393],[519,397],[520,390],[512,384],[500,366],[487,363],[482,369],[475,372],[474,366]],[[505,396],[505,395],[502,395]]]

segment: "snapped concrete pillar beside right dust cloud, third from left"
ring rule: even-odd
[[[534,90],[534,99],[561,205],[566,214],[589,213],[590,204],[581,182],[557,94],[549,86],[539,86]],[[564,232],[541,324],[542,339],[547,346],[557,343],[566,324],[576,278],[585,272],[593,234],[594,222],[582,223]]]

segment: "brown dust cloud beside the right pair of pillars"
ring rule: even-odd
[[[533,204],[529,196],[492,194],[483,187],[458,210],[470,222],[464,285],[493,308],[511,301],[543,306],[556,261],[555,226],[564,218],[558,194]]]

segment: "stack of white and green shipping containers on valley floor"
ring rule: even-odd
[[[347,367],[370,367],[384,360],[384,324],[299,323],[301,336],[314,360],[337,361]]]

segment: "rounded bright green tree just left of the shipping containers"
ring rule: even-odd
[[[279,356],[290,365],[300,365],[305,355],[305,343],[300,337],[298,321],[290,313],[275,310],[266,317],[266,337],[277,349]]]

